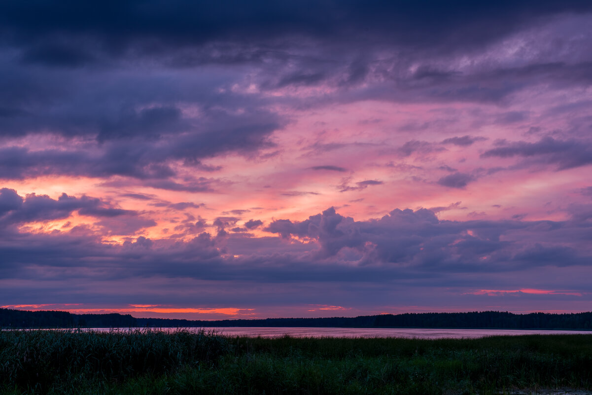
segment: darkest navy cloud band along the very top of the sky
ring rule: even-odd
[[[533,7],[536,5],[536,7]],[[479,46],[510,33],[540,17],[561,12],[583,12],[585,1],[503,1],[487,4],[472,1],[452,3],[376,1],[273,2],[237,5],[234,2],[152,1],[5,1],[0,21],[5,40],[36,47],[36,57],[45,63],[71,65],[86,59],[68,39],[89,37],[104,52],[118,54],[141,41],[144,52],[185,46],[224,38],[262,39],[283,34],[305,33],[313,37],[350,40],[353,31],[381,34],[385,41],[406,41],[410,46]],[[503,26],[499,21],[503,20]],[[46,48],[47,37],[66,37],[60,46]],[[363,36],[361,37],[363,38]],[[33,51],[33,49],[31,49]],[[31,55],[29,55],[31,57]],[[355,73],[353,73],[355,74]]]

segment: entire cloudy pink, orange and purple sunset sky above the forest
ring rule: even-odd
[[[589,1],[6,0],[0,307],[592,310]]]

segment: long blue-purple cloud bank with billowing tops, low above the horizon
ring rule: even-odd
[[[14,194],[3,191],[0,196],[2,207],[14,207]],[[220,217],[216,222],[223,230],[237,220]],[[379,219],[355,221],[329,208],[304,221],[276,220],[265,228],[281,237],[252,237],[240,229],[224,231],[224,237],[200,233],[186,242],[140,236],[117,246],[82,229],[44,235],[5,229],[0,272],[4,279],[34,281],[41,288],[54,281],[100,284],[95,300],[121,297],[121,291],[111,288],[134,278],[134,283],[150,284],[143,287],[151,291],[162,286],[171,295],[170,281],[185,292],[182,284],[193,279],[197,282],[191,284],[200,284],[192,287],[196,295],[214,292],[219,298],[224,285],[249,300],[253,293],[248,290],[255,284],[258,289],[281,287],[281,292],[272,292],[274,300],[300,301],[290,289],[322,284],[326,291],[343,283],[348,285],[339,296],[353,303],[367,293],[368,284],[373,297],[383,287],[404,292],[421,287],[498,289],[492,285],[502,281],[500,289],[505,289],[509,273],[523,287],[525,273],[566,266],[587,270],[591,251],[582,247],[590,242],[588,227],[581,221],[445,221],[426,209],[392,210]],[[496,280],[497,274],[503,279]],[[130,293],[139,295],[141,289],[126,287],[126,295]]]

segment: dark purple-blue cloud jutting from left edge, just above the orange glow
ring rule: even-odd
[[[152,110],[155,111],[155,110]],[[157,113],[147,115],[150,119]],[[176,113],[176,111],[175,111]],[[162,115],[162,114],[161,114]],[[278,117],[257,112],[255,114],[225,115],[217,112],[194,133],[181,134],[175,139],[151,138],[152,131],[170,134],[173,130],[160,128],[156,120],[146,121],[152,126],[147,129],[137,127],[120,130],[125,137],[131,133],[141,140],[123,140],[100,143],[91,149],[72,145],[69,149],[29,150],[25,147],[0,148],[0,178],[22,179],[28,176],[49,174],[84,175],[108,177],[111,175],[129,176],[137,179],[161,179],[150,181],[155,188],[186,191],[207,191],[210,187],[201,185],[175,185],[166,178],[175,175],[169,167],[170,160],[185,160],[187,166],[202,168],[200,159],[211,158],[221,153],[249,153],[261,147],[271,146],[269,134],[279,129]],[[160,116],[160,115],[158,115]],[[165,118],[168,115],[165,116]],[[143,134],[146,131],[146,134]],[[99,138],[101,137],[99,134]],[[153,136],[156,137],[156,136]]]

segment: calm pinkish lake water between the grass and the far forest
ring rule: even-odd
[[[199,328],[186,328],[199,330]],[[401,329],[401,328],[333,328],[333,327],[207,327],[227,336],[262,336],[275,338],[290,335],[302,337],[330,338],[417,338],[417,339],[464,339],[484,336],[516,335],[573,335],[582,333],[592,335],[585,330],[534,330],[534,329]]]

